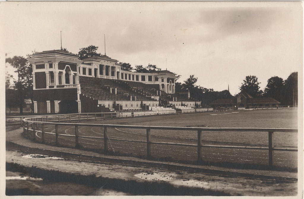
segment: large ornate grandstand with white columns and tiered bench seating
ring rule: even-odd
[[[37,52],[33,67],[34,113],[177,110],[199,107],[188,93],[175,93],[168,70],[130,72],[106,55],[80,60],[63,50]]]

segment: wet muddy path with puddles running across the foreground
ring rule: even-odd
[[[187,173],[183,171],[169,171],[147,167],[123,166],[116,164],[100,164],[79,162],[67,159],[30,158],[29,154],[17,151],[6,151],[6,162],[17,163],[25,167],[36,166],[45,170],[81,176],[104,177],[109,179],[123,179],[126,183],[161,182],[174,187],[191,187],[221,192],[229,195],[244,196],[295,196],[297,195],[296,182],[276,182],[271,180],[249,179],[246,177],[221,177],[202,173]],[[7,180],[8,182],[8,180]],[[117,187],[111,187],[116,189]],[[118,188],[117,188],[118,189]],[[116,190],[117,190],[116,189]],[[118,189],[119,190],[119,189]],[[144,191],[144,190],[143,190]],[[157,190],[153,190],[157,195]],[[114,193],[112,193],[115,195]],[[102,194],[100,194],[102,195]],[[172,193],[174,195],[174,193]]]

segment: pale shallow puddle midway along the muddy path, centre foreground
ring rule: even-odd
[[[177,176],[176,173],[173,172],[151,172],[151,173],[138,173],[134,176],[141,178],[143,180],[155,180],[155,181],[171,181],[173,178]]]

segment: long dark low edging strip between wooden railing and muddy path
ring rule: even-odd
[[[203,174],[205,173],[205,174],[212,174],[223,177],[248,177],[251,179],[273,180],[273,181],[282,181],[282,182],[298,181],[297,178],[293,178],[293,177],[268,176],[268,175],[254,174],[254,173],[242,173],[242,172],[233,172],[226,170],[206,169],[195,165],[184,165],[175,162],[166,163],[166,162],[150,161],[150,160],[144,160],[138,158],[121,157],[121,156],[116,156],[115,158],[96,157],[96,156],[82,155],[71,152],[62,152],[59,150],[31,148],[31,147],[18,145],[10,141],[6,141],[6,149],[16,150],[26,153],[37,153],[41,155],[61,157],[67,160],[77,160],[81,162],[90,162],[90,163],[113,163],[123,166],[141,166],[141,167],[168,169],[172,171],[186,171],[186,172],[195,172],[195,173],[203,173]]]

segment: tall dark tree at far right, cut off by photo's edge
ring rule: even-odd
[[[298,104],[298,72],[293,72],[285,80],[284,105],[296,106]]]

